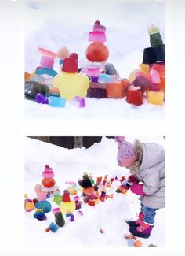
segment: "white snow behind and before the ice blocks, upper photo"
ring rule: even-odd
[[[107,60],[114,64],[122,78],[138,69],[143,60],[143,49],[150,46],[147,28],[160,27],[165,43],[165,4],[162,2],[27,2],[25,6],[25,71],[34,72],[39,65],[38,46],[56,52],[67,46],[77,52],[79,66],[84,65],[85,50],[89,45],[88,33],[95,20],[107,26],[106,45],[110,50]],[[91,10],[89,15],[89,9]],[[103,11],[102,11],[103,10]],[[143,15],[144,13],[144,15]],[[58,60],[54,69],[59,72]],[[144,99],[142,106],[132,106],[122,100],[85,98],[87,106],[74,109],[70,102],[64,109],[53,109],[25,100],[29,118],[163,118],[165,104],[154,106]],[[95,107],[99,111],[95,111]]]

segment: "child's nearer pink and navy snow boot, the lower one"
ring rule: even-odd
[[[154,228],[154,224],[151,225],[140,221],[140,226],[130,227],[129,232],[131,232],[131,234],[134,236],[148,238],[149,236],[151,236],[152,228]]]

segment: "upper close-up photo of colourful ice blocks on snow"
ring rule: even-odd
[[[165,3],[25,2],[26,118],[165,118]]]

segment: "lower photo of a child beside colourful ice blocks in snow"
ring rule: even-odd
[[[165,247],[165,136],[27,136],[25,246]]]

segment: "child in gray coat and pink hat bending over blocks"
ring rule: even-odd
[[[135,140],[132,144],[125,137],[116,137],[115,140],[118,143],[118,165],[132,173],[122,186],[140,195],[141,201],[138,220],[127,221],[129,232],[148,238],[154,228],[156,210],[165,207],[165,150],[156,143]]]

